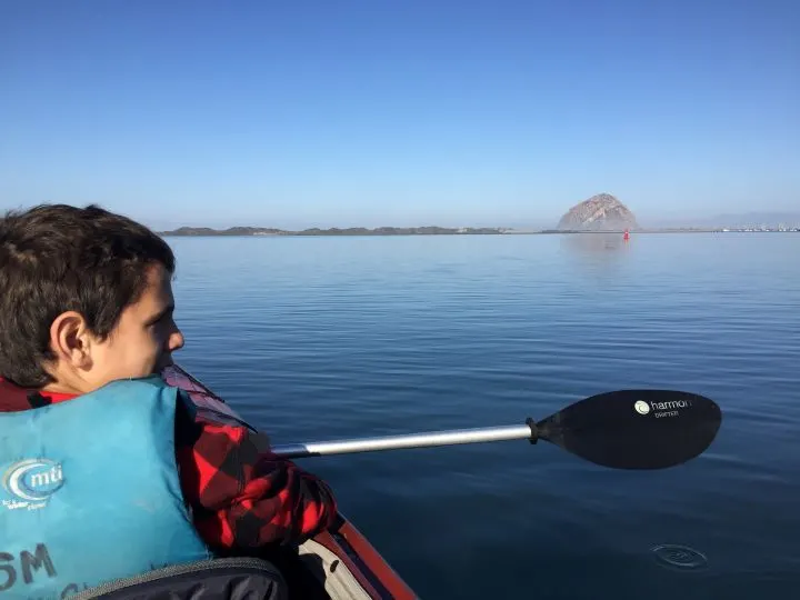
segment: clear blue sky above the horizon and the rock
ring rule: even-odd
[[[8,1],[0,208],[154,227],[800,210],[800,2]],[[554,223],[552,223],[554,224]]]

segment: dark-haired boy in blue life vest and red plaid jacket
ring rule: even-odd
[[[0,592],[256,553],[333,522],[324,482],[157,377],[184,341],[174,267],[160,237],[96,206],[0,220]],[[93,561],[72,556],[87,548]]]

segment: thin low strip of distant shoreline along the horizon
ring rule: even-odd
[[[798,233],[794,228],[642,228],[631,230],[631,234],[641,233]],[[220,237],[390,237],[390,236],[563,236],[563,234],[622,234],[622,229],[583,231],[558,229],[512,229],[512,228],[444,228],[444,227],[380,227],[377,229],[304,229],[287,231],[273,228],[232,227],[211,229],[206,227],[181,227],[171,231],[159,231],[164,238],[220,238]]]

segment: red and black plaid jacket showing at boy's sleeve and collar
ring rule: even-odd
[[[74,396],[27,393],[0,378],[0,412],[18,412]],[[209,547],[244,551],[301,542],[330,527],[337,506],[330,488],[269,452],[262,434],[191,417],[179,402],[176,457],[194,527]]]

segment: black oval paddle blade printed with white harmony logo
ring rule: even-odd
[[[702,453],[722,422],[696,393],[621,390],[576,402],[537,423],[538,438],[613,469],[664,469]]]

